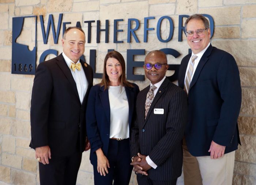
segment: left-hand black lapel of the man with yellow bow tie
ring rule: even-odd
[[[67,66],[67,63],[65,62],[64,58],[63,58],[63,55],[60,54],[57,58],[57,65],[60,67],[60,69],[62,70],[62,72],[64,73],[64,75],[67,77],[72,89],[74,90],[79,102],[80,102],[80,98],[79,98],[79,95],[78,95],[78,91],[77,91],[77,88],[76,88],[76,82],[71,74],[71,71],[69,69],[69,67]],[[81,102],[80,102],[81,103]]]

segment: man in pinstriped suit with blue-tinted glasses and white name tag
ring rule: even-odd
[[[150,85],[137,96],[131,164],[139,185],[176,185],[182,168],[187,96],[166,78],[169,66],[162,51],[148,53],[143,67]]]

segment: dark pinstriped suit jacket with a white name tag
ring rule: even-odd
[[[145,102],[150,86],[139,92],[136,121],[131,132],[131,155],[149,155],[157,165],[148,170],[151,180],[174,180],[181,175],[182,138],[187,121],[187,95],[167,78],[158,89],[145,119]],[[163,114],[155,114],[161,108]]]

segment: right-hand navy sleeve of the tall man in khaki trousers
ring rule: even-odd
[[[217,81],[221,99],[221,113],[213,139],[222,146],[231,146],[241,108],[239,70],[232,55],[226,53],[220,63]]]

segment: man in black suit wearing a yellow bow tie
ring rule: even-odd
[[[83,30],[68,28],[63,53],[40,63],[35,73],[30,147],[39,161],[41,185],[76,184],[86,149],[85,107],[93,84],[93,70],[79,59],[84,44]]]

